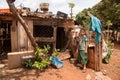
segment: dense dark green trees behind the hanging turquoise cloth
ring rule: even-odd
[[[76,22],[89,29],[90,19],[86,12],[90,11],[94,16],[98,17],[102,22],[102,30],[112,30],[114,41],[117,41],[117,32],[120,31],[120,0],[101,0],[92,8],[84,9],[76,15]],[[108,24],[107,22],[110,23]],[[112,25],[111,25],[112,23]]]

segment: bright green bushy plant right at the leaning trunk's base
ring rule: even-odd
[[[49,50],[50,50],[49,45],[44,46],[44,49],[36,48],[36,52],[35,52],[36,61],[32,65],[34,68],[43,70],[50,65],[49,55],[48,55]]]

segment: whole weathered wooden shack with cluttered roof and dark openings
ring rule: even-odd
[[[30,12],[28,8],[18,11],[40,47],[49,44],[52,49],[62,49],[66,45],[66,33],[74,28],[74,21],[67,14]],[[33,50],[22,25],[9,9],[0,9],[0,45],[0,53]]]

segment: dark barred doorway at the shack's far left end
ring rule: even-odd
[[[7,55],[8,52],[11,52],[11,25],[10,20],[0,20],[0,55]]]

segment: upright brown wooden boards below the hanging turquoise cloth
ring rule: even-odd
[[[99,41],[99,44],[94,43],[93,46],[91,47],[89,46],[88,48],[88,66],[96,71],[100,71],[101,64],[102,64],[102,38]]]

